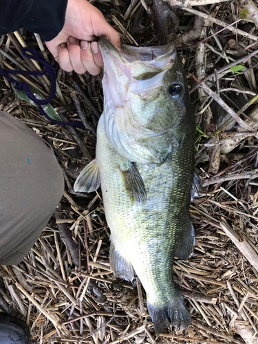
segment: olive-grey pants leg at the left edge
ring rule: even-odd
[[[0,111],[0,264],[19,264],[63,195],[52,147]]]

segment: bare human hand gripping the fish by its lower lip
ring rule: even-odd
[[[45,42],[55,60],[67,72],[100,73],[103,59],[96,40],[107,36],[120,47],[120,36],[103,14],[87,0],[68,0],[65,24],[52,41]]]

